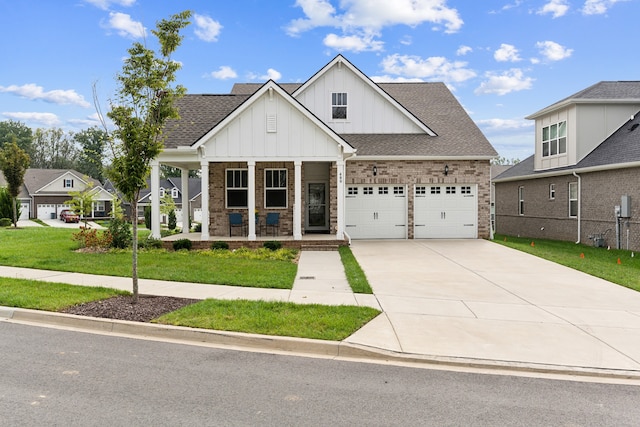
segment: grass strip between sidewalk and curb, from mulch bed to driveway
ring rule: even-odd
[[[340,341],[379,313],[371,307],[208,299],[166,314],[154,323]]]

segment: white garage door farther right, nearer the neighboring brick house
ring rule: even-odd
[[[414,199],[416,239],[475,239],[478,197],[474,185],[417,185]]]

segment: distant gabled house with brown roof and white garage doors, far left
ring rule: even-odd
[[[0,183],[4,182],[0,172]],[[112,196],[99,181],[72,169],[27,169],[20,188],[20,219],[58,218],[63,209],[69,209],[70,191],[82,191],[93,183],[94,203],[92,218],[109,216]]]

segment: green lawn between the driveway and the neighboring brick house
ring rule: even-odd
[[[504,235],[496,235],[494,241],[640,291],[640,259],[633,252]]]

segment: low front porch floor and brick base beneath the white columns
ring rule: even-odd
[[[226,242],[229,249],[263,247],[264,242],[277,241],[283,248],[296,250],[338,250],[340,246],[346,246],[349,241],[336,239],[335,234],[304,234],[302,239],[294,239],[293,236],[256,236],[255,240],[249,240],[247,236],[210,236],[202,239],[202,233],[178,233],[163,237],[162,244],[165,249],[172,249],[173,242],[179,239],[189,239],[193,243],[193,249],[211,249],[213,242]]]

